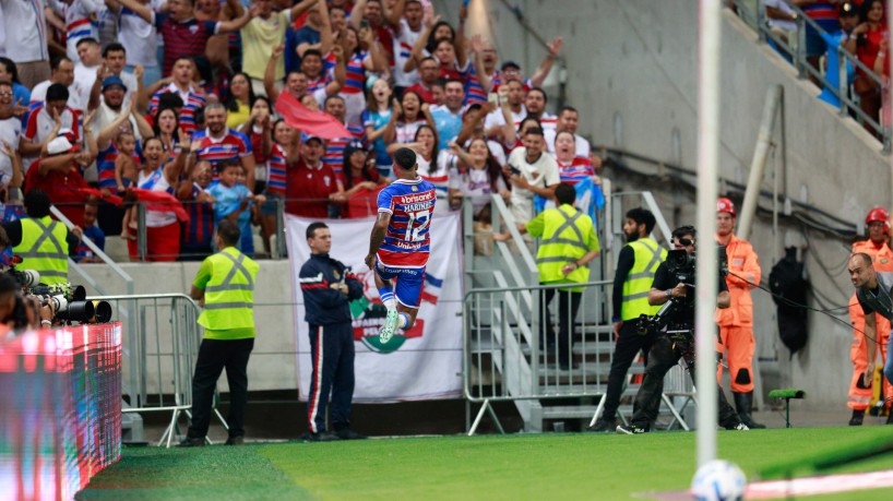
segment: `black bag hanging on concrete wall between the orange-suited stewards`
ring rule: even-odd
[[[778,308],[778,334],[793,357],[809,337],[807,310],[799,306],[806,305],[809,282],[803,278],[803,263],[797,261],[796,247],[786,248],[785,257],[772,266],[769,288]]]

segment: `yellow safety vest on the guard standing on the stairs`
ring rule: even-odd
[[[575,263],[590,251],[588,242],[595,231],[592,218],[567,204],[548,208],[538,217],[543,217],[543,235],[536,253],[539,282],[544,284],[587,282],[588,267],[580,266],[567,277],[561,273],[561,267]]]

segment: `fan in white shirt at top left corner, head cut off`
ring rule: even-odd
[[[15,62],[19,80],[31,88],[49,79],[45,0],[0,0],[7,57]]]

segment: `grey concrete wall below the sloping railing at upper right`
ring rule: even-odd
[[[446,19],[455,20],[459,2],[436,1]],[[524,17],[544,39],[562,35],[567,61],[567,102],[581,110],[580,133],[629,152],[695,167],[696,157],[696,33],[695,0],[514,0]],[[486,11],[486,19],[477,14]],[[513,59],[532,73],[545,50],[526,34],[514,13],[497,0],[472,0],[469,31],[492,35],[502,60]],[[757,140],[761,111],[771,85],[784,87],[783,127],[787,139],[786,163],[775,152],[763,188],[772,189],[772,167],[777,165],[782,192],[795,200],[852,222],[891,198],[891,178],[881,145],[849,119],[815,99],[819,90],[796,77],[777,53],[760,45],[755,35],[731,12],[723,19],[722,165],[726,179],[745,182]],[[557,94],[557,71],[547,84]],[[774,134],[776,144],[781,135]],[[647,169],[644,165],[636,168]],[[640,177],[608,170],[620,189],[638,190]],[[859,182],[867,180],[868,182]],[[671,223],[694,220],[690,193],[666,190],[659,194]],[[659,183],[651,184],[660,190]],[[721,190],[724,187],[721,186]],[[766,201],[762,202],[767,206]],[[844,261],[848,244],[811,231],[807,254],[813,287],[829,308],[846,305],[852,291]],[[760,254],[763,279],[773,255],[784,244],[805,242],[802,227],[782,224],[777,235],[767,220],[758,218],[751,241]],[[820,314],[810,314],[810,343],[787,360],[775,327],[775,308],[767,294],[754,291],[758,351],[778,358],[781,374],[767,385],[806,389],[808,406],[843,406],[852,366],[852,330]],[[819,303],[812,303],[820,307]],[[846,313],[841,315],[847,319]],[[770,366],[765,363],[764,366]]]

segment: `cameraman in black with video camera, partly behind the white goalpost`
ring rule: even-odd
[[[688,253],[688,261],[684,269],[684,282],[680,279],[678,260],[674,255],[668,255],[667,260],[660,263],[654,274],[654,283],[648,291],[648,303],[652,306],[672,303],[665,309],[662,307],[656,319],[662,314],[666,315],[666,329],[658,333],[657,338],[648,351],[648,361],[645,366],[645,378],[642,386],[635,395],[635,404],[632,420],[629,425],[617,427],[618,433],[634,434],[645,433],[651,430],[651,425],[657,419],[657,411],[660,408],[660,389],[664,375],[682,358],[688,366],[689,373],[694,379],[694,249],[696,230],[693,226],[682,226],[672,231],[672,244],[675,249],[684,249]],[[718,294],[716,296],[717,308],[728,308],[729,294],[726,282],[718,281]],[[662,322],[663,323],[663,322]],[[713,360],[707,361],[713,363]],[[726,395],[718,392],[719,401],[719,425],[727,430],[747,430],[748,427],[741,422],[738,414],[731,408]]]

